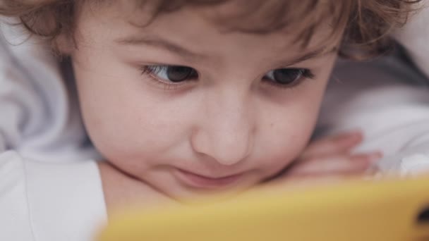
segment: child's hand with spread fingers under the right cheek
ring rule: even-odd
[[[281,179],[331,178],[362,175],[382,157],[380,152],[351,154],[363,140],[361,132],[349,132],[310,143]]]

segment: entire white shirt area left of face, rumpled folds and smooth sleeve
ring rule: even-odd
[[[93,240],[107,211],[74,87],[46,44],[0,27],[0,240]]]

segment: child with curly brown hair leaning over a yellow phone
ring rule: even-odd
[[[239,192],[284,168],[288,177],[362,173],[380,154],[349,154],[359,132],[303,149],[337,55],[377,54],[411,8],[3,1],[1,13],[14,17],[6,21],[19,18],[35,36],[12,47],[23,35],[2,24],[0,223],[11,228],[0,239],[90,240],[115,206]],[[42,43],[63,56],[61,71]],[[359,43],[369,44],[352,48]],[[75,162],[97,157],[85,145],[74,83],[107,161]]]

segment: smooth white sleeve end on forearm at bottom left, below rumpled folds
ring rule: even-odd
[[[95,161],[48,163],[0,154],[0,225],[16,220],[19,228],[0,231],[0,240],[90,240],[107,219],[105,209]],[[29,236],[18,238],[22,233]]]

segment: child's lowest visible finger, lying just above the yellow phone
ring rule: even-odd
[[[351,175],[363,173],[381,158],[380,152],[370,154],[338,155],[320,157],[298,163],[286,175],[315,176],[315,175]]]

